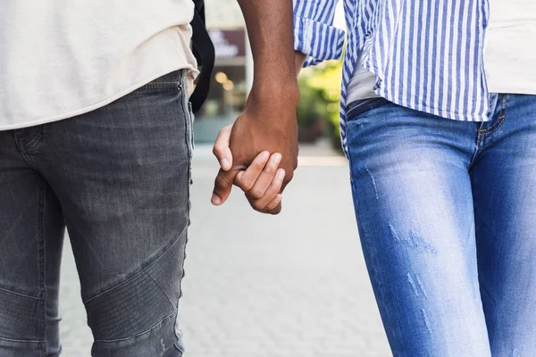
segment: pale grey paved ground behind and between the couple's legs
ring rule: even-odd
[[[209,203],[217,170],[197,148],[184,297],[187,357],[388,357],[357,237],[348,168],[304,148],[280,216],[249,209],[237,190]],[[70,248],[67,245],[67,248]],[[71,253],[63,263],[66,357],[89,356]]]

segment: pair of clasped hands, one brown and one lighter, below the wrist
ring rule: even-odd
[[[212,203],[224,203],[235,184],[256,211],[277,214],[281,192],[297,168],[299,95],[291,85],[276,95],[256,95],[251,93],[246,110],[216,140],[214,155],[222,170],[215,180]]]

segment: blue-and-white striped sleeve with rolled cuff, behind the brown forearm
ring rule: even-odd
[[[336,60],[344,31],[332,26],[338,0],[294,0],[294,48],[307,54],[305,66]]]

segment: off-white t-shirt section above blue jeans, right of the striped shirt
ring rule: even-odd
[[[536,1],[490,0],[485,38],[490,93],[536,95]]]

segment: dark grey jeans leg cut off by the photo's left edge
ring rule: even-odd
[[[21,155],[38,129],[0,132],[0,355],[58,356],[60,204]],[[21,151],[19,151],[21,150]]]

